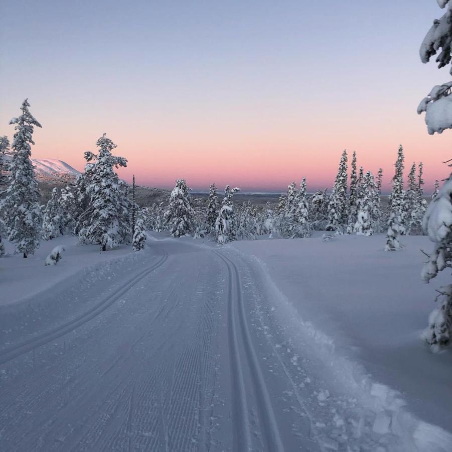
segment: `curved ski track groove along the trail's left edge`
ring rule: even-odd
[[[59,326],[53,331],[31,337],[29,340],[24,341],[21,344],[4,349],[2,352],[0,352],[0,366],[21,355],[24,355],[25,353],[32,351],[33,349],[36,349],[37,347],[41,347],[45,344],[48,344],[49,342],[56,340],[59,337],[64,336],[65,334],[73,331],[75,328],[78,328],[79,326],[88,322],[89,320],[92,320],[94,317],[105,311],[105,309],[111,306],[115,301],[120,299],[131,287],[142,280],[146,275],[152,273],[154,270],[162,266],[167,259],[168,254],[165,254],[156,264],[129,279],[120,290],[112,295],[105,297],[96,306],[79,315],[75,319],[72,319],[71,321]]]

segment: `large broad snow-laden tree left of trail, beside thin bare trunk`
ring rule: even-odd
[[[106,134],[96,145],[99,148],[97,154],[85,152],[87,177],[80,181],[88,205],[82,213],[83,224],[78,237],[81,243],[97,244],[105,251],[126,243],[130,234],[127,184],[120,181],[113,170],[127,166],[127,159],[112,155],[116,145]]]

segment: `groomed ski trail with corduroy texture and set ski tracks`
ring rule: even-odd
[[[416,450],[418,424],[395,433],[293,343],[258,265],[191,240],[143,256],[53,324],[8,313],[0,450]]]

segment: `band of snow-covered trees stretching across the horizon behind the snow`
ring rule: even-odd
[[[179,179],[169,203],[140,208],[135,202],[135,184],[118,178],[115,168],[125,167],[127,159],[113,155],[116,145],[103,134],[97,140],[97,153],[85,152],[85,171],[61,189],[54,188],[45,206],[39,205],[39,187],[31,157],[34,127],[41,127],[31,115],[29,103],[13,118],[14,141],[0,138],[0,183],[6,188],[0,200],[0,220],[8,240],[24,257],[33,254],[40,240],[64,234],[76,235],[83,244],[99,245],[102,251],[132,244],[144,247],[145,231],[168,231],[173,237],[211,238],[219,244],[238,239],[253,240],[261,235],[282,238],[308,238],[313,231],[330,234],[372,235],[387,232],[387,250],[400,248],[398,237],[422,234],[426,210],[422,163],[413,163],[404,189],[403,148],[395,164],[389,204],[381,205],[380,169],[374,177],[357,168],[356,153],[348,174],[347,151],[342,153],[331,193],[327,189],[308,195],[306,178],[297,188],[292,182],[274,208],[245,203],[236,207],[233,195],[238,188],[226,186],[220,201],[215,184],[205,203],[193,200],[184,179]],[[9,154],[9,159],[5,156]],[[437,193],[438,183],[435,184]],[[435,195],[434,193],[434,195]],[[433,195],[433,196],[434,196]],[[0,236],[0,253],[4,252]]]

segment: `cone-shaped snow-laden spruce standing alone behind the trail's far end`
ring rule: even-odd
[[[195,211],[190,202],[190,188],[184,179],[178,179],[171,192],[170,203],[165,211],[165,222],[173,237],[188,236],[195,232]]]

